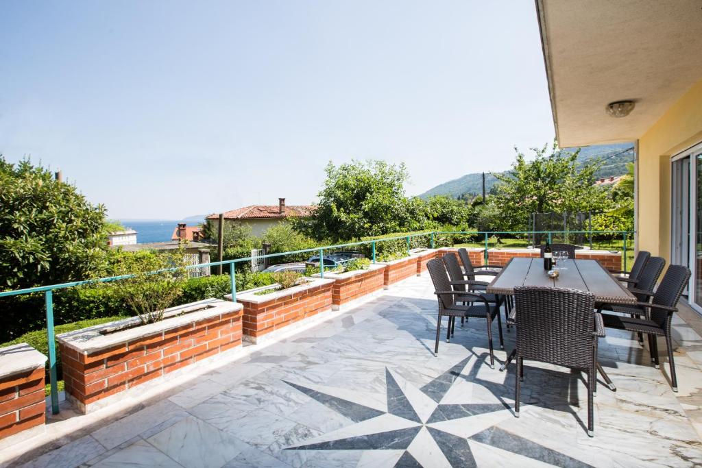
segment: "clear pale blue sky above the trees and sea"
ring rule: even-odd
[[[310,203],[351,158],[420,194],[553,135],[531,1],[0,5],[0,152],[111,218]]]

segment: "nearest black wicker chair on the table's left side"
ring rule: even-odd
[[[449,317],[449,329],[446,335],[446,340],[449,339],[449,333],[453,328],[453,324],[456,321],[456,317],[475,317],[477,319],[482,318],[487,321],[487,338],[488,345],[490,349],[490,367],[495,368],[495,356],[492,349],[492,321],[497,317],[498,326],[502,328],[502,322],[500,319],[500,311],[498,307],[491,307],[486,297],[479,295],[477,293],[456,291],[451,288],[451,282],[449,281],[449,276],[446,272],[446,267],[444,262],[440,258],[435,258],[427,262],[427,269],[429,270],[429,275],[432,278],[432,283],[434,283],[434,293],[437,295],[437,300],[439,302],[439,317],[437,319],[437,339],[436,345],[434,347],[434,354],[437,356],[439,354],[439,334],[441,333],[441,321],[444,316]],[[465,302],[469,300],[473,301],[472,304],[467,305]],[[477,305],[479,304],[479,305]],[[502,342],[502,333],[500,333],[500,345],[504,346]]]

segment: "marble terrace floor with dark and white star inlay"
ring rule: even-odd
[[[677,319],[680,392],[630,335],[608,330],[595,437],[583,377],[527,362],[522,417],[514,364],[485,363],[484,321],[432,354],[428,275],[340,312],[124,413],[15,458],[30,467],[644,467],[702,464],[702,339]],[[694,312],[693,326],[702,324]],[[699,323],[695,322],[699,321]],[[495,325],[496,327],[496,325]],[[496,331],[496,328],[494,329]],[[514,330],[505,331],[512,349]],[[665,349],[661,346],[661,349]],[[498,361],[505,352],[496,351]],[[498,363],[499,364],[499,363]],[[602,382],[600,380],[600,382]],[[67,424],[62,412],[55,424]],[[73,416],[80,420],[88,416]],[[70,424],[77,424],[71,422]],[[51,433],[53,424],[48,426]],[[55,450],[47,451],[47,448]]]

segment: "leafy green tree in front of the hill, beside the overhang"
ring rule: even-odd
[[[581,165],[578,152],[563,152],[554,144],[547,154],[547,148],[533,148],[532,161],[515,148],[517,161],[512,170],[495,174],[494,203],[501,210],[505,228],[525,229],[531,213],[575,213],[603,206],[606,192],[592,185],[600,161]]]

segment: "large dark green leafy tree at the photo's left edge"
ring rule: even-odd
[[[0,281],[29,288],[90,278],[105,267],[105,207],[29,160],[0,155]]]

